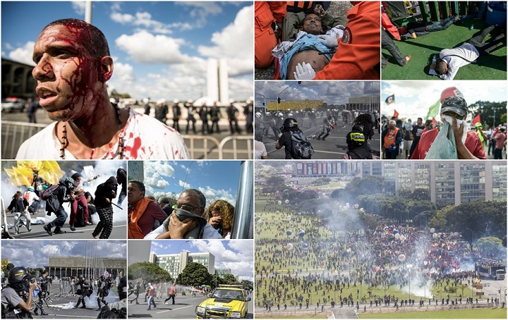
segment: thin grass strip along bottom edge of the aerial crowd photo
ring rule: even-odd
[[[358,314],[360,319],[507,319],[507,309],[471,309],[425,312]]]

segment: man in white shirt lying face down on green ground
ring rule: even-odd
[[[489,54],[490,51],[497,47],[497,44],[500,44],[501,40],[504,38],[504,34],[502,33],[492,39],[492,41],[483,43],[485,37],[487,37],[494,28],[495,25],[485,28],[480,32],[480,35],[468,39],[459,47],[454,49],[442,49],[439,59],[437,59],[435,65],[431,65],[430,68],[434,69],[442,80],[453,80],[460,67],[473,63],[481,54]]]

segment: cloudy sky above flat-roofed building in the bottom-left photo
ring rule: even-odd
[[[2,259],[11,259],[15,266],[40,268],[48,265],[48,257],[95,257],[126,258],[125,240],[15,240],[2,241]]]

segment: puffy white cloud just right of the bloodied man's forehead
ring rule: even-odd
[[[115,40],[116,45],[132,59],[140,63],[183,63],[192,62],[190,56],[181,54],[183,39],[165,35],[152,35],[141,30],[133,35],[121,35]]]

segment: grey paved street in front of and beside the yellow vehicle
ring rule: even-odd
[[[133,296],[131,295],[132,298]],[[165,299],[165,295],[164,295]],[[177,295],[175,304],[164,304],[164,299],[155,299],[157,308],[147,310],[145,296],[140,295],[138,301],[140,304],[128,304],[128,318],[157,318],[157,319],[195,319],[195,307],[206,299],[203,296],[191,297],[188,295]],[[168,300],[168,303],[171,303]],[[248,302],[247,319],[253,319],[254,303]]]

